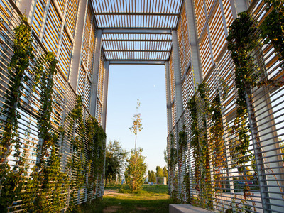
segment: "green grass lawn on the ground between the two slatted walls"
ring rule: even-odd
[[[145,185],[138,193],[131,193],[128,187],[106,187],[111,192],[102,201],[82,204],[75,212],[169,212],[173,203],[168,195],[168,185]],[[116,191],[116,192],[112,192]]]

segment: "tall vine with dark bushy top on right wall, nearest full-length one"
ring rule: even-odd
[[[239,13],[239,18],[231,24],[228,40],[228,49],[231,51],[231,57],[235,64],[235,82],[238,97],[236,99],[236,119],[231,133],[236,133],[239,137],[238,146],[236,146],[236,160],[239,172],[244,170],[244,165],[249,157],[249,126],[246,118],[248,109],[246,107],[246,96],[251,87],[256,86],[256,76],[251,70],[254,70],[253,57],[249,55],[256,47],[256,39],[251,35],[256,31],[253,20],[249,13]]]

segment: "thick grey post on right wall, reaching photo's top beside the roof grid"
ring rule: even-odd
[[[190,50],[191,50],[191,66],[195,81],[195,88],[197,84],[202,82],[202,69],[200,62],[200,49],[198,47],[197,28],[195,23],[195,10],[192,0],[185,0],[185,9],[187,13],[187,28],[190,35]]]

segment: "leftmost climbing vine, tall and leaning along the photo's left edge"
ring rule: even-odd
[[[21,16],[20,25],[15,28],[15,38],[13,40],[13,56],[8,66],[8,89],[6,90],[5,102],[1,114],[4,115],[3,133],[0,141],[0,184],[2,186],[0,195],[0,211],[6,212],[7,207],[11,207],[13,202],[21,197],[23,189],[23,175],[26,174],[24,158],[20,155],[21,141],[18,135],[17,113],[20,106],[21,89],[23,89],[23,73],[28,68],[29,60],[33,58],[33,48],[31,39],[31,27],[27,23],[27,18]],[[7,157],[11,153],[11,145],[15,145],[17,159],[16,165],[11,170],[7,163]]]

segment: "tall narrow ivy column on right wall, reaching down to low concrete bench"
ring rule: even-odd
[[[207,140],[207,119],[209,113],[209,87],[202,82],[188,102],[188,109],[192,119],[192,139],[190,146],[193,148],[195,158],[195,190],[198,192],[197,201],[200,207],[212,208],[212,185],[209,167],[209,141]],[[200,125],[198,120],[202,121]]]

